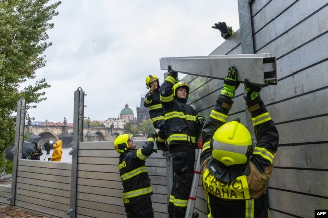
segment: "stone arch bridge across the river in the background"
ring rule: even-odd
[[[111,141],[124,129],[116,128],[84,128],[83,141]],[[28,135],[29,141],[36,141],[40,146],[47,141],[62,140],[63,147],[71,147],[73,140],[73,127],[68,126],[36,126],[25,125],[25,134]]]

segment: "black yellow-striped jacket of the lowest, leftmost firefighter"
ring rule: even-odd
[[[119,171],[123,185],[123,203],[133,204],[140,198],[152,195],[145,160],[153,153],[154,139],[147,138],[141,149],[129,150],[120,155]]]

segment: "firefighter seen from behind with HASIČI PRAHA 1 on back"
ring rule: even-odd
[[[252,147],[247,128],[234,120],[226,123],[233,101],[237,70],[229,68],[224,89],[203,126],[202,186],[208,217],[270,217],[266,195],[274,168],[278,132],[258,95],[261,88],[245,79],[245,100],[255,130]]]

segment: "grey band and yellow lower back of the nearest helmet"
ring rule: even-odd
[[[232,144],[225,144],[220,141],[213,141],[213,157],[230,166],[233,164],[244,164],[248,158],[246,156],[248,146],[237,146]]]

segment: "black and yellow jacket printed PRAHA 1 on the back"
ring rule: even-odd
[[[220,95],[203,127],[202,186],[208,217],[268,217],[267,184],[274,168],[278,131],[260,97],[247,102],[257,143],[249,161],[226,166],[215,160],[210,146],[214,132],[228,117],[233,102]]]

